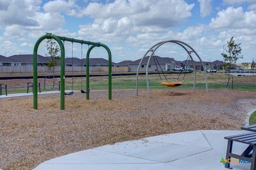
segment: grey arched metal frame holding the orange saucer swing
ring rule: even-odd
[[[190,45],[188,45],[188,44],[186,44],[182,41],[170,40],[170,41],[162,41],[162,42],[156,43],[151,48],[149,48],[148,51],[145,53],[145,55],[143,55],[143,57],[141,58],[138,69],[137,69],[137,74],[136,74],[136,94],[139,95],[138,82],[139,82],[139,71],[140,71],[142,61],[148,55],[148,53],[151,52],[151,54],[149,55],[149,58],[148,58],[148,61],[147,61],[147,67],[146,67],[147,94],[148,94],[148,97],[150,98],[149,77],[148,77],[149,61],[150,61],[151,57],[153,56],[153,54],[155,53],[155,51],[157,50],[157,48],[159,48],[160,46],[162,46],[163,44],[166,44],[166,43],[174,43],[174,44],[178,44],[179,46],[181,46],[188,53],[189,58],[193,62],[194,70],[196,70],[196,66],[195,66],[194,59],[191,56],[191,53],[192,52],[195,53],[195,55],[197,56],[197,58],[199,59],[199,61],[202,64],[202,67],[203,67],[203,70],[204,70],[204,75],[205,75],[205,89],[206,89],[206,92],[208,92],[206,69],[205,69],[205,66],[204,66],[203,61],[200,58],[200,56],[197,54],[197,52],[194,50],[194,48],[192,48]],[[194,87],[193,87],[193,89],[196,90],[196,71],[194,71]]]

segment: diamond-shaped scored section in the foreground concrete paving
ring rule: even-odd
[[[95,149],[134,158],[153,160],[159,163],[167,163],[183,157],[211,150],[210,147],[194,147],[191,145],[155,142],[145,139],[122,142],[115,145],[105,145]]]

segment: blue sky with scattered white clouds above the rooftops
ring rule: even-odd
[[[205,61],[222,60],[231,36],[242,43],[244,59],[238,62],[256,58],[256,0],[0,0],[0,16],[0,54],[7,56],[32,54],[47,32],[104,43],[114,62],[139,59],[155,43],[171,39],[188,43]],[[65,48],[71,56],[71,44]],[[42,44],[39,54],[44,53]],[[81,44],[74,44],[74,55],[82,57]],[[174,44],[156,55],[187,58]],[[92,57],[107,54],[96,48]]]

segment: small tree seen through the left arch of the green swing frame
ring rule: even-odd
[[[53,73],[53,87],[54,87],[54,83],[55,83],[54,72],[55,72],[55,67],[58,66],[58,61],[60,60],[60,55],[59,55],[60,47],[55,41],[52,41],[52,39],[48,39],[46,41],[46,48],[47,48],[47,52],[45,55],[50,56],[48,68],[52,70],[52,73]]]

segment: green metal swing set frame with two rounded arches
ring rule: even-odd
[[[40,37],[35,46],[34,46],[34,53],[33,53],[33,95],[34,95],[34,109],[37,109],[37,51],[38,51],[38,46],[44,39],[55,39],[57,43],[60,46],[60,61],[61,61],[61,66],[60,66],[60,109],[64,110],[65,109],[65,47],[62,43],[67,41],[71,43],[80,43],[80,44],[87,44],[91,45],[91,47],[88,49],[86,53],[86,91],[89,91],[89,58],[90,58],[90,53],[94,47],[103,47],[107,50],[108,52],[108,99],[111,100],[111,51],[109,50],[108,46],[102,43],[94,43],[94,42],[89,42],[89,41],[83,41],[79,39],[74,39],[74,38],[67,38],[67,37],[61,37],[57,35],[53,35],[51,33],[47,33]],[[86,93],[86,100],[90,99],[90,94]]]

